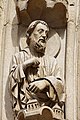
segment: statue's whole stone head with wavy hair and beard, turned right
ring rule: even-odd
[[[32,47],[34,47],[37,52],[44,53],[48,32],[49,27],[46,22],[41,20],[32,22],[26,31],[28,46],[32,44]]]

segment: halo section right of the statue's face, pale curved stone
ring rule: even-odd
[[[45,54],[57,57],[61,49],[60,36],[55,30],[51,30],[50,37],[47,42]]]

